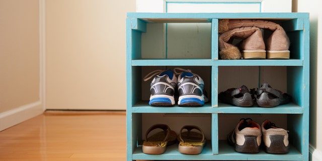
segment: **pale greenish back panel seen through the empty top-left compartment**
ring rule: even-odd
[[[146,24],[142,59],[210,59],[211,23]]]

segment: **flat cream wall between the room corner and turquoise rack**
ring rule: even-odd
[[[135,1],[46,1],[46,109],[126,109],[126,12]]]

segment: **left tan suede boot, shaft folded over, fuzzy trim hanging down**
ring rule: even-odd
[[[232,40],[241,39],[239,49],[244,59],[265,59],[266,50],[262,32],[257,27],[240,27],[222,33],[219,36],[219,56],[221,59],[240,59],[239,49],[231,44]]]

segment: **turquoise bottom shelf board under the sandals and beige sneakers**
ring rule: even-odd
[[[219,140],[219,153],[213,154],[211,142],[208,141],[202,152],[197,155],[182,154],[178,144],[170,145],[163,154],[145,154],[142,146],[138,146],[133,154],[133,160],[303,160],[303,155],[293,146],[287,154],[269,154],[263,149],[259,153],[238,153],[226,140]]]

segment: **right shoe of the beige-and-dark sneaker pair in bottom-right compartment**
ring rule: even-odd
[[[262,123],[263,142],[267,153],[283,154],[289,151],[288,133],[274,123],[265,120]]]

